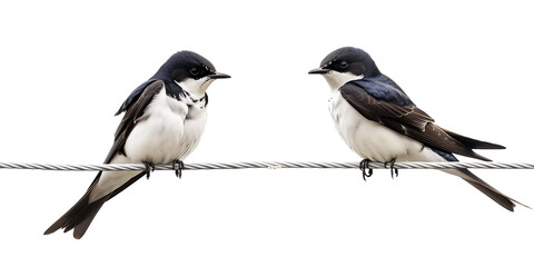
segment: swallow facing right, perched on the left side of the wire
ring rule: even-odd
[[[204,132],[208,95],[217,72],[202,56],[182,50],[174,53],[147,81],[123,101],[116,116],[125,112],[105,164],[145,164],[142,171],[99,171],[85,192],[44,235],[73,229],[80,239],[102,205],[154,170],[171,164],[181,177],[184,160],[197,147]]]

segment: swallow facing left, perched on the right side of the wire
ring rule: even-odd
[[[396,161],[458,161],[454,155],[491,161],[473,149],[505,149],[437,126],[393,79],[378,70],[363,49],[336,49],[308,75],[320,75],[327,81],[332,119],[348,147],[364,159],[364,179],[372,175],[365,172],[369,161],[390,164],[393,177]],[[444,171],[464,179],[510,211],[514,211],[515,204],[525,206],[468,169]]]

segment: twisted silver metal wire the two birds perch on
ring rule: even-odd
[[[369,162],[370,169],[389,169],[384,162]],[[55,164],[20,164],[0,162],[0,169],[37,169],[37,170],[69,170],[69,171],[120,171],[145,170],[144,164],[120,165],[55,165]],[[214,169],[358,169],[359,162],[286,162],[286,161],[253,161],[253,162],[215,162],[215,164],[185,164],[185,170]],[[524,162],[395,162],[396,169],[534,169],[534,164]],[[156,165],[155,170],[172,170],[172,165]]]

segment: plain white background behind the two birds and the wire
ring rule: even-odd
[[[370,3],[373,2],[373,3]],[[444,128],[533,162],[528,1],[7,1],[0,3],[0,161],[99,164],[113,117],[182,49],[211,85],[187,162],[359,161],[309,69],[368,51]],[[475,170],[534,206],[532,170]],[[156,171],[106,204],[81,240],[42,233],[95,172],[0,170],[0,266],[533,266],[534,211],[508,212],[436,170]]]

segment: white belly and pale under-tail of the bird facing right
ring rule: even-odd
[[[195,107],[192,107],[195,108]],[[170,99],[165,92],[156,95],[147,107],[145,120],[130,132],[123,155],[116,155],[111,164],[169,164],[184,160],[197,146],[206,125],[206,109],[197,110],[195,118],[186,120],[189,108]],[[103,171],[89,201],[95,201],[122,186],[140,171]]]

